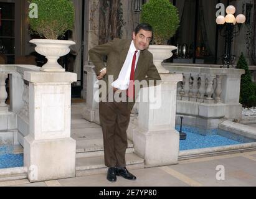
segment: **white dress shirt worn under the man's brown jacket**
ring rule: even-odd
[[[131,41],[131,45],[129,51],[126,55],[125,62],[123,63],[123,67],[118,75],[117,80],[111,83],[111,86],[118,88],[120,90],[126,90],[129,87],[130,82],[130,75],[131,75],[131,62],[133,61],[133,55],[137,49],[135,48],[133,40]],[[140,50],[136,53],[136,62],[135,62],[135,69],[140,57]]]

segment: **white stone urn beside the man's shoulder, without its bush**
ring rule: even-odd
[[[169,73],[168,70],[162,66],[163,60],[173,56],[173,50],[177,47],[174,45],[149,45],[149,52],[153,54],[153,62],[159,73]]]

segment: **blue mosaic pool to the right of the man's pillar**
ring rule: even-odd
[[[176,125],[175,129],[179,131],[180,126]],[[252,139],[247,139],[246,137],[239,136],[232,132],[223,131],[221,129],[199,129],[192,126],[183,126],[183,132],[186,132],[187,139],[179,141],[179,150],[201,149],[255,142]]]

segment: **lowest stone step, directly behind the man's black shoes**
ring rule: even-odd
[[[126,154],[128,170],[145,168],[144,159],[136,154]],[[104,164],[104,156],[83,157],[76,159],[76,177],[84,175],[107,174],[108,168]]]

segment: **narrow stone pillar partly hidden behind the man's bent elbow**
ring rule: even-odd
[[[87,72],[87,95],[86,95],[86,106],[83,109],[83,119],[87,121],[100,124],[100,116],[98,113],[98,102],[95,101],[94,97],[96,91],[98,90],[97,86],[94,86],[97,79],[97,76],[93,70],[94,66],[84,66],[83,67]]]

